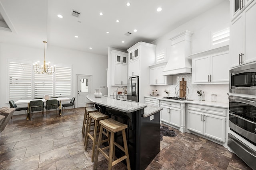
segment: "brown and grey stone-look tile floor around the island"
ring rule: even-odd
[[[32,121],[16,115],[1,133],[0,169],[10,170],[92,170],[91,147],[84,150],[82,121],[84,108],[65,109],[65,115],[41,119],[35,114]],[[221,145],[190,133],[163,137],[160,152],[146,170],[247,170],[240,158]],[[90,140],[89,140],[90,141]],[[98,168],[107,169],[106,159],[100,154]],[[114,170],[125,170],[120,162]]]

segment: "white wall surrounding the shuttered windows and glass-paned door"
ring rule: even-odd
[[[107,51],[106,51],[107,53]],[[36,49],[32,47],[24,47],[22,45],[12,45],[0,43],[0,107],[8,106],[8,76],[7,76],[7,60],[22,59],[30,61],[43,61],[44,49]],[[50,61],[54,64],[72,65],[72,95],[76,96],[76,74],[92,75],[92,92],[94,88],[107,86],[108,57],[64,49],[61,47],[51,46],[48,44],[46,50],[46,62]],[[102,89],[102,94],[107,94],[107,88]]]

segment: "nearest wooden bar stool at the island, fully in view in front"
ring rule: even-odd
[[[99,134],[99,140],[98,140],[98,145],[97,145],[97,150],[96,150],[96,157],[94,160],[94,170],[96,170],[97,167],[97,162],[98,162],[98,156],[99,152],[103,154],[103,156],[108,160],[108,170],[111,170],[112,166],[115,164],[121,162],[122,160],[126,159],[127,163],[127,169],[130,170],[130,159],[129,159],[129,154],[128,154],[128,147],[127,147],[127,141],[126,141],[126,134],[125,134],[125,129],[127,128],[127,125],[120,123],[118,121],[115,121],[114,119],[104,119],[99,121],[100,124],[100,134]],[[107,132],[110,132],[110,145],[104,148],[100,148],[100,145],[104,142],[102,141],[102,132],[103,129],[106,129]],[[116,132],[122,131],[122,136],[123,136],[123,142],[124,142],[124,148],[116,143],[114,141],[114,135]],[[121,149],[125,155],[122,156],[121,158],[118,158],[117,160],[114,160],[114,155],[115,155],[115,148],[114,146],[118,147]],[[109,154],[107,155],[104,150],[109,149]],[[113,158],[113,160],[112,160]]]

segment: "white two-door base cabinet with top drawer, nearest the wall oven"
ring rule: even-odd
[[[188,104],[187,129],[225,142],[227,109]]]

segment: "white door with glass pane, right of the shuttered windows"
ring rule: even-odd
[[[86,96],[91,93],[91,76],[76,76],[76,92],[77,107],[84,107],[86,102],[88,102]]]

